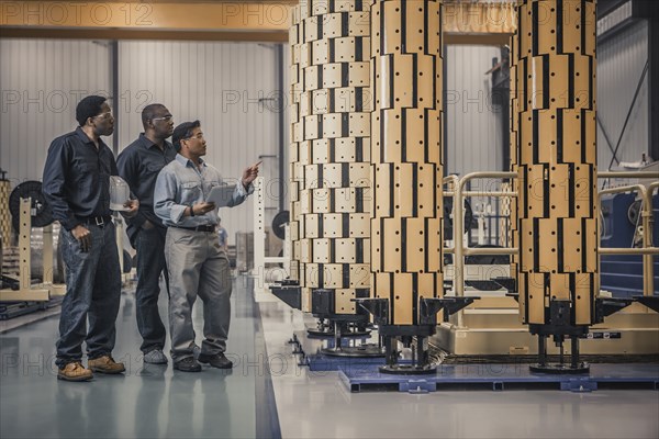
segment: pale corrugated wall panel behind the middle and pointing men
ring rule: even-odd
[[[141,112],[164,103],[175,124],[199,119],[209,149],[205,159],[226,178],[237,179],[259,156],[278,154],[277,53],[273,44],[215,42],[121,42],[120,149],[143,131]],[[266,101],[259,103],[259,99]],[[278,159],[266,157],[260,175],[266,195],[266,225],[277,213]],[[236,232],[253,229],[252,200],[221,212],[234,243]]]

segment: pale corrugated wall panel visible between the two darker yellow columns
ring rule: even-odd
[[[447,173],[502,169],[502,139],[498,108],[491,102],[492,58],[499,47],[446,46]]]

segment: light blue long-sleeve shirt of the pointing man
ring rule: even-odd
[[[154,212],[166,226],[216,225],[217,209],[203,215],[183,216],[186,209],[205,201],[211,189],[216,185],[236,183],[236,190],[228,203],[230,207],[241,204],[254,192],[253,184],[249,185],[249,191],[246,191],[239,179],[224,180],[217,169],[201,159],[200,162],[201,167],[197,167],[192,160],[177,154],[176,158],[158,173],[154,190]]]

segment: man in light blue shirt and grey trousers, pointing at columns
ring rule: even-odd
[[[185,122],[174,130],[178,155],[156,179],[154,211],[167,228],[165,258],[169,271],[169,331],[174,368],[201,371],[200,362],[231,369],[224,356],[231,319],[231,271],[228,258],[217,243],[217,209],[206,202],[211,189],[225,184],[220,172],[201,157],[206,154],[199,121]],[[243,171],[230,207],[254,192],[252,182],[258,165]],[[204,340],[198,360],[193,357],[192,305],[197,295],[204,303]],[[199,361],[199,362],[198,362]]]

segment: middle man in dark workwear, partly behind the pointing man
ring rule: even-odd
[[[166,139],[174,133],[174,120],[160,103],[142,111],[144,133],[118,157],[119,175],[129,183],[139,200],[139,211],[127,222],[126,233],[137,250],[137,288],[135,290],[137,329],[142,335],[139,349],[144,362],[166,364],[165,325],[158,312],[160,273],[169,289],[165,266],[165,235],[167,228],[154,213],[154,188],[158,172],[176,157],[174,146]]]

